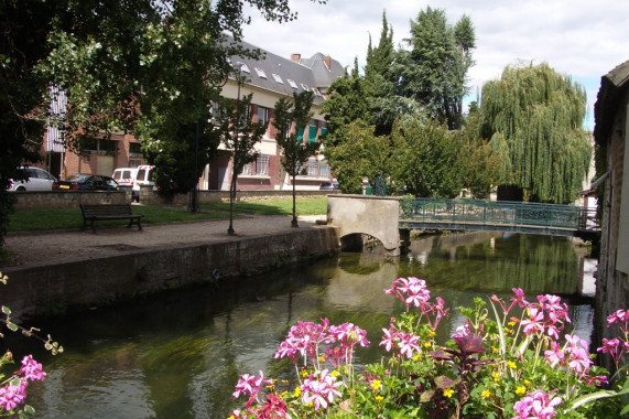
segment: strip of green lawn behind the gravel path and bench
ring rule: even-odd
[[[291,215],[293,213],[293,200],[237,202],[234,204],[234,212],[236,217],[238,213]],[[327,212],[327,198],[297,197],[296,212],[297,215],[324,215]],[[227,219],[229,218],[229,202],[203,204],[196,214],[191,214],[186,206],[133,205],[133,214],[144,214],[142,224]],[[79,208],[18,210],[11,214],[7,232],[76,229],[82,227],[83,217]]]

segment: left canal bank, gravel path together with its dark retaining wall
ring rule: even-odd
[[[339,250],[338,229],[325,216],[243,216],[91,232],[14,234],[2,304],[14,319],[64,313],[218,282],[329,256]]]

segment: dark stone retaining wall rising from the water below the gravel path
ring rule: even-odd
[[[220,244],[127,250],[120,256],[8,268],[2,303],[15,320],[107,305],[140,296],[229,281],[338,251],[335,227],[296,229]]]

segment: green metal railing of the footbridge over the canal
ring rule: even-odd
[[[404,222],[451,225],[512,226],[568,230],[596,230],[590,211],[576,205],[510,201],[404,198]],[[488,228],[482,228],[488,229]]]

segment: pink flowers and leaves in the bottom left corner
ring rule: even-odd
[[[0,272],[0,282],[7,284],[8,280],[9,278]],[[0,323],[7,326],[9,331],[40,340],[46,351],[50,351],[53,355],[63,353],[63,346],[54,342],[51,335],[43,339],[35,333],[39,332],[37,329],[24,329],[14,323],[11,316],[11,309],[6,305],[2,305],[1,311]],[[0,333],[0,337],[4,337],[3,333]],[[24,356],[21,361],[22,366],[20,369],[8,376],[4,369],[9,364],[13,364],[13,354],[7,350],[0,357],[0,416],[25,418],[35,412],[33,407],[25,404],[29,383],[43,380],[46,373],[42,369],[42,364],[33,359],[32,355]]]

